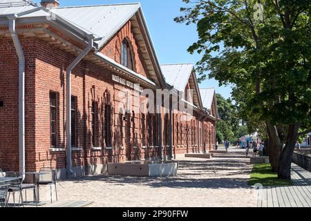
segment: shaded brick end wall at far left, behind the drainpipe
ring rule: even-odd
[[[26,57],[25,111],[26,164],[32,169],[35,162],[35,46],[33,39],[21,39]],[[0,168],[19,169],[19,66],[12,39],[0,39]]]

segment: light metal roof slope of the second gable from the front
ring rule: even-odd
[[[164,64],[161,65],[161,69],[167,84],[183,92],[187,86],[192,70],[194,70],[194,65]]]

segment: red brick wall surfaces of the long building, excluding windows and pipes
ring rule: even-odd
[[[102,52],[120,61],[120,44],[124,37],[128,37],[132,44],[136,71],[146,76],[130,22],[104,46]],[[75,57],[40,39],[32,37],[20,37],[20,39],[26,56],[26,170],[35,171],[44,166],[64,168],[66,166],[66,68]],[[19,164],[18,59],[12,40],[9,38],[0,39],[0,73],[0,100],[4,102],[4,106],[0,107],[0,168],[16,171]],[[149,122],[148,115],[142,113],[120,113],[120,108],[123,111],[126,109],[124,90],[127,90],[129,95],[134,93],[133,89],[115,83],[109,68],[82,61],[73,70],[72,95],[77,97],[75,147],[82,148],[82,151],[73,151],[73,166],[143,160],[158,156],[158,147],[156,147],[158,141],[153,141],[151,137],[153,126],[157,128],[158,122],[155,124]],[[57,146],[53,150],[50,148],[50,92],[57,93]],[[140,97],[140,99],[144,98]],[[92,102],[96,104],[95,145],[92,143],[91,133]],[[106,105],[111,106],[111,146],[105,144]],[[129,105],[137,108],[139,102],[132,100]],[[182,115],[185,113],[174,114],[172,121],[173,153],[191,153],[212,148],[214,122],[206,121],[198,126],[200,115],[194,114],[191,121],[181,122]],[[168,124],[165,124],[167,115],[161,117],[162,145],[164,153],[168,153],[169,149],[165,148],[167,146],[165,133],[168,130]],[[194,131],[198,133],[200,128],[202,142],[198,142],[197,140],[200,139],[194,135]],[[143,130],[145,130],[144,137]],[[158,137],[157,130],[155,132]],[[100,149],[94,149],[94,146]]]

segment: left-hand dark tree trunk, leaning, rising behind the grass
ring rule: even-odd
[[[281,155],[282,144],[279,138],[279,133],[275,125],[272,125],[270,122],[266,122],[267,130],[270,140],[270,162],[272,166],[272,171],[279,171],[279,159]]]

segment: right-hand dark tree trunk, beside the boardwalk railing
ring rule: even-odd
[[[288,130],[288,137],[279,161],[279,179],[290,180],[290,170],[292,169],[292,154],[298,138],[300,124],[292,124]]]

